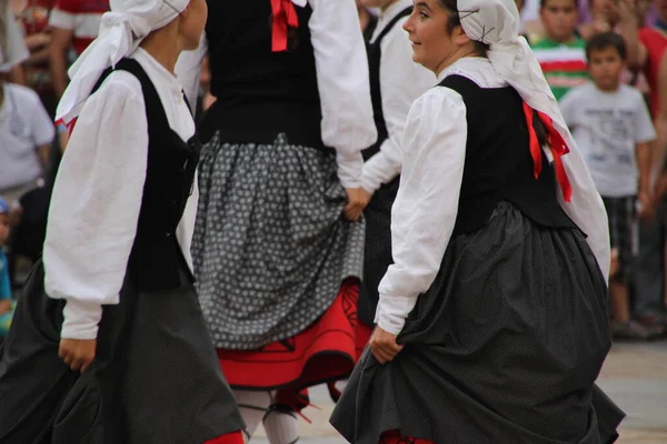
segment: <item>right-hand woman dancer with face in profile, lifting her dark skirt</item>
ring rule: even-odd
[[[331,422],[356,444],[600,443],[607,221],[516,4],[419,0],[405,29],[440,84],[408,117],[396,263]]]

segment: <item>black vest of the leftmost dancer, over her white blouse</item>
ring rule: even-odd
[[[170,128],[158,91],[136,60],[123,59],[116,69],[130,72],[141,82],[148,121],[148,164],[137,236],[128,262],[129,278],[138,291],[190,284],[193,278],[185,264],[176,229],[192,192],[200,144],[196,137],[183,142]],[[104,71],[93,92],[111,72]],[[189,282],[181,282],[182,270],[187,270]]]

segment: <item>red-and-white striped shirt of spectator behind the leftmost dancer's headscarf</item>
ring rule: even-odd
[[[102,14],[109,0],[57,0],[49,23],[73,32],[72,46],[81,54],[98,37]]]

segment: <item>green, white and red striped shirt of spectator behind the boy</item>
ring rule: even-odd
[[[560,100],[570,89],[588,83],[586,42],[583,39],[558,43],[542,38],[532,42],[531,48],[556,100]]]

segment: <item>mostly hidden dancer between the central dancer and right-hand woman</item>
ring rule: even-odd
[[[408,34],[401,29],[412,11],[411,0],[364,0],[379,8],[378,24],[367,44],[370,94],[377,142],[364,150],[362,191],[366,218],[364,280],[359,289],[357,347],[366,347],[375,325],[378,284],[391,264],[391,205],[398,191],[400,137],[412,102],[435,84],[434,74],[412,62]]]

